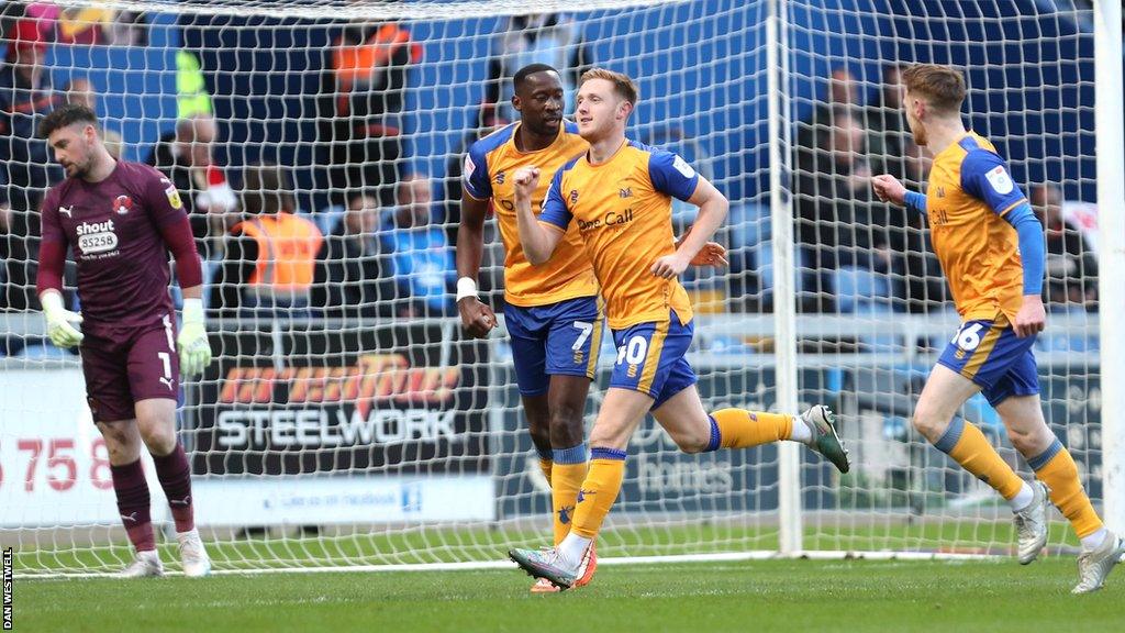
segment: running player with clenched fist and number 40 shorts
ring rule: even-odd
[[[585,552],[621,490],[629,438],[649,410],[686,453],[791,439],[848,470],[826,407],[802,416],[742,409],[709,416],[703,409],[695,374],[684,358],[694,324],[677,276],[691,264],[721,264],[721,252],[708,248],[708,240],[727,216],[727,198],[680,157],[626,139],[637,104],[628,77],[586,72],[577,102],[578,133],[590,150],[554,175],[538,216],[531,198],[541,169],[523,167],[514,175],[520,243],[528,261],[549,266],[556,249],[574,248],[564,235],[577,225],[618,347],[610,389],[590,435],[590,473],[569,534],[555,547],[510,552],[530,574],[562,589],[580,578]],[[673,196],[700,207],[678,244],[672,232]]]

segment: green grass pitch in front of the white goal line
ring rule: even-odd
[[[1069,595],[1071,556],[604,565],[528,592],[518,571],[24,580],[16,631],[1125,631],[1125,573]]]

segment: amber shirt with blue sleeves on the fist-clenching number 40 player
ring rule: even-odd
[[[657,258],[675,252],[672,197],[687,200],[699,175],[676,154],[626,141],[610,160],[591,164],[585,154],[551,180],[541,223],[578,229],[580,250],[594,265],[610,328],[692,319],[678,279],[652,275]],[[569,243],[558,249],[572,248]],[[557,252],[557,251],[556,251]]]

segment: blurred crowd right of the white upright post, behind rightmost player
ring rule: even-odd
[[[901,70],[888,65],[866,104],[848,69],[832,70],[827,99],[800,124],[792,182],[799,310],[929,313],[950,305],[925,217],[879,203],[870,187],[872,175],[891,173],[925,190],[932,159],[902,114]],[[1087,231],[1064,214],[1061,187],[1032,184],[1027,193],[1046,232],[1044,298],[1055,311],[1097,310],[1097,258]]]

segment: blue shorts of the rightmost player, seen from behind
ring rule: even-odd
[[[1034,336],[1018,338],[999,314],[994,320],[962,323],[937,362],[978,384],[996,407],[1011,395],[1040,392],[1033,345]]]

